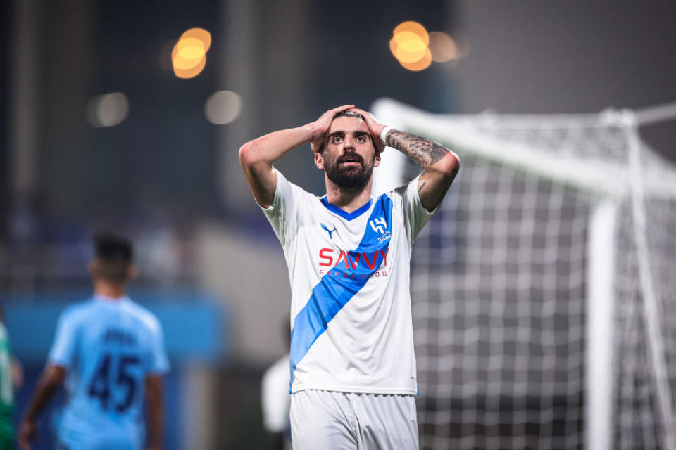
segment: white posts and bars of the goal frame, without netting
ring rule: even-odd
[[[606,110],[587,115],[500,115],[501,124],[532,127],[537,120],[556,127],[622,127],[629,142],[629,163],[622,165],[600,159],[580,161],[572,152],[564,155],[546,153],[515,143],[503,142],[480,134],[477,124],[495,120],[496,115],[439,115],[427,113],[389,98],[377,100],[371,110],[380,122],[396,129],[420,134],[444,143],[458,153],[498,162],[520,172],[534,174],[556,184],[572,186],[592,199],[592,214],[587,245],[587,355],[586,412],[584,444],[587,449],[610,450],[613,432],[613,311],[615,307],[615,231],[618,205],[632,200],[634,239],[639,255],[639,278],[644,296],[646,331],[651,349],[651,364],[658,388],[661,425],[665,430],[664,449],[676,448],[676,432],[671,412],[674,406],[668,394],[659,307],[654,294],[646,240],[644,198],[676,198],[676,171],[668,163],[653,164],[650,171],[642,167],[646,146],[639,139],[642,124],[676,119],[676,103],[642,110]],[[529,123],[530,122],[530,123]],[[571,156],[568,156],[571,155]],[[660,162],[657,155],[649,155]],[[374,172],[374,193],[382,193],[403,183],[406,156],[387,148],[380,167]],[[665,168],[666,167],[666,168]],[[653,173],[658,170],[658,176]],[[594,333],[590,332],[594,330]]]

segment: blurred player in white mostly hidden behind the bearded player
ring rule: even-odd
[[[289,321],[284,320],[285,342],[289,345]],[[285,354],[268,367],[261,380],[261,407],[263,427],[273,438],[272,449],[291,449],[291,423],[289,421],[289,354]]]

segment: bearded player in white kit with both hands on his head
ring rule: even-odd
[[[325,175],[320,198],[273,167],[308,142]],[[385,145],[424,172],[372,198]],[[409,260],[458,157],[344,105],[245,143],[239,161],[289,268],[294,449],[418,449]]]

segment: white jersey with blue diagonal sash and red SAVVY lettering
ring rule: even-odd
[[[289,267],[291,392],[417,394],[410,259],[433,214],[418,178],[345,212],[277,172],[263,212]]]

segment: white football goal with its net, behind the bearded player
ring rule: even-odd
[[[639,138],[668,105],[382,123],[461,172],[415,243],[423,449],[675,449],[676,169]],[[374,190],[419,170],[387,149]]]

